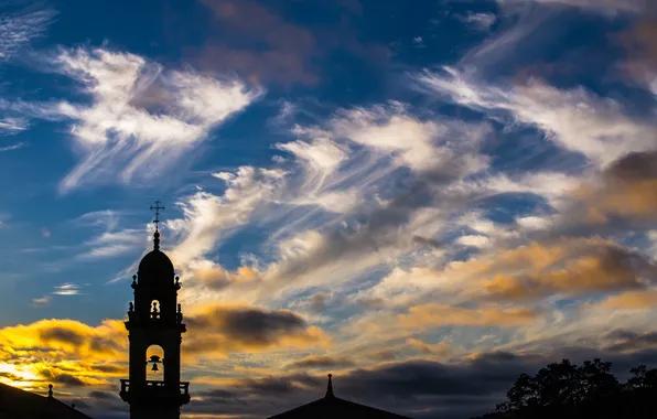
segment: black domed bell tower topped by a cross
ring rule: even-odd
[[[180,279],[173,264],[160,251],[160,202],[151,206],[155,212],[153,250],[139,264],[132,277],[134,303],[130,302],[126,329],[130,341],[129,379],[121,379],[121,399],[130,405],[130,419],[179,419],[180,407],[190,401],[190,383],[182,383],[181,343],[186,331],[181,304],[177,304]],[[147,351],[159,345],[163,357],[147,359]],[[147,379],[147,368],[163,367],[162,380]]]

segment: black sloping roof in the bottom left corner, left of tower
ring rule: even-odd
[[[61,400],[21,390],[0,383],[0,418],[2,419],[91,419]]]

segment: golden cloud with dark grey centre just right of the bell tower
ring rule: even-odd
[[[287,310],[215,303],[185,320],[190,327],[185,352],[190,354],[262,352],[328,342],[321,329]]]

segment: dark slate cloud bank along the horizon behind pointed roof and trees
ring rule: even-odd
[[[653,335],[618,331],[608,339],[653,341]],[[640,337],[643,336],[643,337]],[[601,339],[607,340],[606,336]],[[611,361],[620,379],[639,364],[656,365],[657,350],[633,354],[607,350],[566,347],[551,354],[482,353],[471,361],[438,363],[403,361],[367,369],[334,374],[337,397],[383,408],[417,419],[464,419],[495,409],[523,373],[536,374],[549,363],[570,358],[573,363],[601,357]],[[316,400],[326,390],[325,375],[297,373],[261,378],[243,378],[230,388],[217,388],[195,396],[185,407],[189,413],[268,417]]]

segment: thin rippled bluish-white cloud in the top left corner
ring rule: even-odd
[[[4,10],[0,18],[0,62],[13,58],[42,37],[57,14],[52,9],[35,10],[34,7],[8,11],[8,6],[11,4],[2,6]]]

